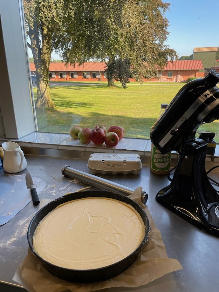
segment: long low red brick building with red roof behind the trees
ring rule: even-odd
[[[104,62],[86,62],[83,65],[67,65],[65,63],[51,63],[49,66],[50,81],[107,81]],[[201,60],[168,62],[164,69],[158,72],[156,78],[144,81],[186,81],[189,77],[204,77]],[[34,63],[30,63],[30,71],[35,73]],[[135,81],[131,78],[130,81]]]

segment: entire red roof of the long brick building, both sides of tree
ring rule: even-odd
[[[75,64],[75,66],[67,65],[65,63],[50,63],[49,71],[105,71],[105,63],[104,62],[86,62],[83,65],[79,66]],[[204,67],[202,65],[201,60],[188,60],[188,61],[168,61],[168,65],[164,67],[163,70],[203,70]],[[30,63],[30,70],[35,71],[34,63]]]

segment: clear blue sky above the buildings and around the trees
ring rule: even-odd
[[[219,0],[163,0],[171,4],[166,17],[169,36],[166,45],[180,56],[193,53],[194,47],[218,47]],[[28,48],[29,57],[32,57]],[[52,58],[60,59],[52,53]]]

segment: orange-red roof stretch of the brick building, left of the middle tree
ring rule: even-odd
[[[79,66],[78,64],[73,65],[67,65],[65,66],[65,63],[50,63],[49,65],[49,71],[105,71],[105,62],[86,62],[83,65]],[[34,63],[30,63],[30,71],[35,71],[35,65]]]

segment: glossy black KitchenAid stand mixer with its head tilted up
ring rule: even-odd
[[[207,142],[195,138],[198,127],[219,119],[219,73],[183,86],[151,128],[151,141],[161,153],[180,154],[170,185],[156,200],[197,227],[219,237],[219,193],[205,170]]]

